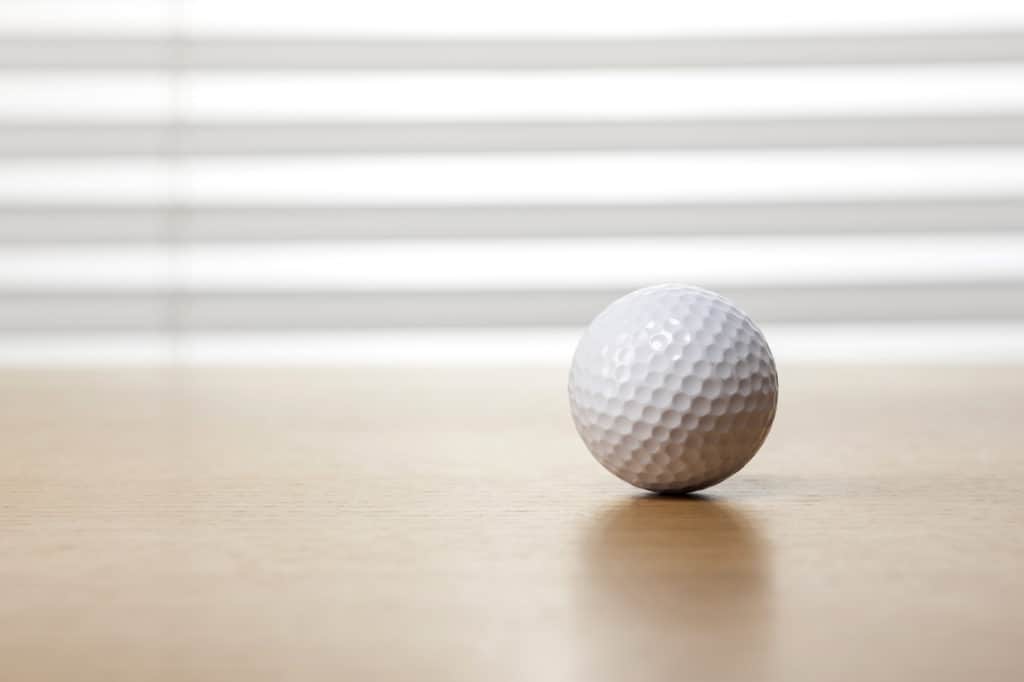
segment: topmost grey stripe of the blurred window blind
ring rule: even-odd
[[[681,69],[1024,60],[1024,31],[646,39],[19,38],[0,69],[423,70]]]

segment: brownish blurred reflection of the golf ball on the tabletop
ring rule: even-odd
[[[601,513],[582,547],[581,679],[757,679],[764,670],[770,551],[739,508],[638,496]]]

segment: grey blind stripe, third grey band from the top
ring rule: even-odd
[[[1024,230],[1018,197],[829,202],[288,206],[0,205],[0,244],[651,238]]]

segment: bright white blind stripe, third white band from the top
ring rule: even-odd
[[[1024,151],[0,161],[0,205],[749,202],[1006,197]]]

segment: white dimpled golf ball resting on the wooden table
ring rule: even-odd
[[[572,358],[569,403],[597,461],[655,492],[739,471],[775,417],[778,376],[754,323],[717,294],[660,285],[614,301]]]

